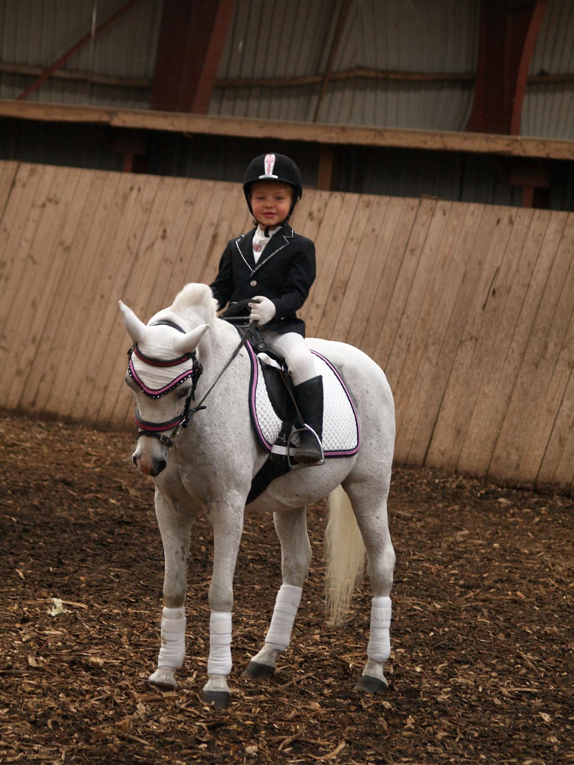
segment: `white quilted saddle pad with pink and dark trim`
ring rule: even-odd
[[[317,374],[323,378],[325,397],[323,451],[325,457],[351,457],[352,454],[357,454],[360,447],[359,421],[351,395],[331,362],[315,350],[311,353],[315,356]],[[279,435],[281,420],[276,415],[267,395],[265,380],[259,366],[263,364],[263,361],[256,358],[253,348],[250,346],[249,354],[252,357],[249,407],[253,425],[263,448],[266,451],[271,451],[272,445]],[[293,443],[298,444],[296,435]]]

